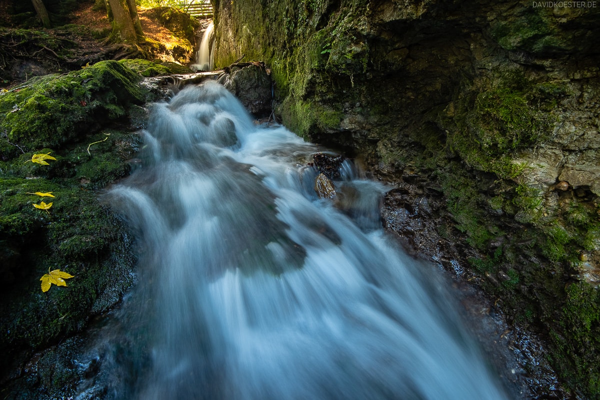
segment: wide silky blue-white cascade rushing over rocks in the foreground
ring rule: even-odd
[[[144,139],[108,195],[141,249],[104,398],[505,399],[437,270],[380,229],[381,184],[346,165],[319,199],[316,147],[213,82],[155,105]]]

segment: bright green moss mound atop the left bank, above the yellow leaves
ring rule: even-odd
[[[29,80],[0,97],[0,132],[25,151],[74,141],[95,120],[119,119],[128,104],[143,102],[139,75],[122,63],[103,61],[64,75]],[[17,149],[4,143],[2,156]]]

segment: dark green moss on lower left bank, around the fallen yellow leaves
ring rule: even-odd
[[[131,284],[133,256],[125,228],[90,188],[128,171],[139,143],[130,132],[104,131],[53,151],[50,165],[23,154],[0,162],[0,273],[10,289],[0,295],[0,351],[39,349],[79,331],[93,313],[106,311]],[[96,139],[110,140],[86,149]],[[89,142],[88,142],[89,141]],[[52,192],[54,198],[28,194]],[[48,212],[33,207],[52,202]],[[40,289],[48,269],[73,274],[67,287]],[[10,333],[9,333],[10,332]]]

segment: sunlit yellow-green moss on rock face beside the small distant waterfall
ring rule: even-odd
[[[324,107],[313,98],[324,81],[335,77],[352,86],[367,68],[369,47],[360,30],[366,24],[366,1],[332,5],[320,0],[218,2],[215,22],[233,21],[217,29],[215,65],[226,66],[239,55],[264,60],[272,68],[277,111],[284,124],[299,135],[337,128],[341,107]],[[320,95],[320,93],[318,93]],[[308,106],[308,98],[310,106]],[[331,104],[331,102],[328,102]],[[308,107],[316,108],[314,112]]]

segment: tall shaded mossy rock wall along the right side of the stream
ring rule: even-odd
[[[278,120],[397,184],[386,227],[458,259],[548,340],[572,390],[600,398],[600,7],[214,5],[217,67],[263,60]]]

